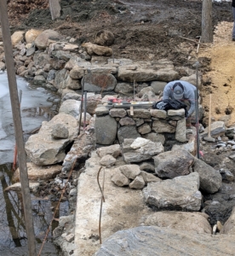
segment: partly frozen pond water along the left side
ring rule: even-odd
[[[42,124],[49,120],[53,113],[53,103],[59,101],[57,96],[48,93],[43,88],[33,88],[24,79],[17,79],[18,90],[22,90],[21,117],[24,130],[24,138],[30,135]],[[6,73],[0,73],[0,256],[28,255],[26,226],[22,198],[14,191],[4,192],[11,184],[12,161],[14,155],[14,125],[9,98],[9,87]],[[34,230],[37,239],[37,252],[39,251],[43,237],[51,222],[56,201],[47,198],[37,198],[32,195],[32,212]],[[60,203],[60,212],[57,218],[66,215],[68,202]],[[52,241],[52,231],[57,226],[53,223],[49,231],[49,239],[43,247],[41,255],[60,255],[60,251]]]

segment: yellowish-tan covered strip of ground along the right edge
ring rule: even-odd
[[[232,24],[221,22],[215,29],[214,44],[200,53],[211,58],[211,71],[205,76],[211,78],[211,84],[203,87],[203,107],[209,109],[209,94],[212,93],[212,118],[225,120],[227,125],[235,123],[235,42],[231,40]]]

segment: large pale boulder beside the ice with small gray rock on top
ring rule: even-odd
[[[54,139],[52,131],[54,125],[66,125],[69,137]],[[66,150],[77,137],[77,119],[70,114],[59,113],[49,122],[44,121],[37,134],[32,135],[26,142],[26,154],[32,162],[39,166],[54,165],[62,162],[66,157]]]

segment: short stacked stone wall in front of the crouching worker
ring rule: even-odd
[[[111,145],[125,138],[144,137],[155,143],[165,144],[169,141],[186,142],[185,110],[159,110],[134,108],[129,109],[106,107],[95,110],[96,143]]]

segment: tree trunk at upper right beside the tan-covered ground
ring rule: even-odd
[[[203,0],[201,41],[203,43],[213,42],[212,1],[211,0]]]

